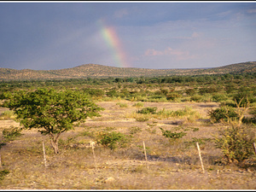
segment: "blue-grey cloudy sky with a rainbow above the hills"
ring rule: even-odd
[[[0,67],[152,69],[256,61],[256,1],[0,3]]]

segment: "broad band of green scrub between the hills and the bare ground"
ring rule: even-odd
[[[170,76],[154,78],[106,78],[24,80],[0,82],[5,91],[76,89],[98,101],[225,102],[235,105],[242,97],[256,103],[256,73]]]

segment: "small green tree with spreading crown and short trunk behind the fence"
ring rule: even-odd
[[[5,93],[3,98],[3,107],[14,110],[25,129],[36,128],[41,134],[49,135],[55,154],[59,153],[58,141],[62,132],[72,130],[75,123],[83,122],[87,117],[99,116],[98,111],[102,110],[75,90],[20,90]]]

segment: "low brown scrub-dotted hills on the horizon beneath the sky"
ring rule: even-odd
[[[197,69],[147,69],[135,67],[108,67],[98,64],[84,64],[78,67],[59,70],[15,70],[0,68],[0,79],[83,79],[83,78],[125,78],[125,77],[157,77],[172,75],[201,75],[224,73],[255,73],[256,61],[241,62],[224,67]]]

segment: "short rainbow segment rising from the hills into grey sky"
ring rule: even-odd
[[[127,61],[127,56],[114,27],[105,26],[102,20],[99,20],[98,23],[101,27],[102,38],[104,38],[109,48],[112,50],[114,61],[118,67],[130,67]]]

